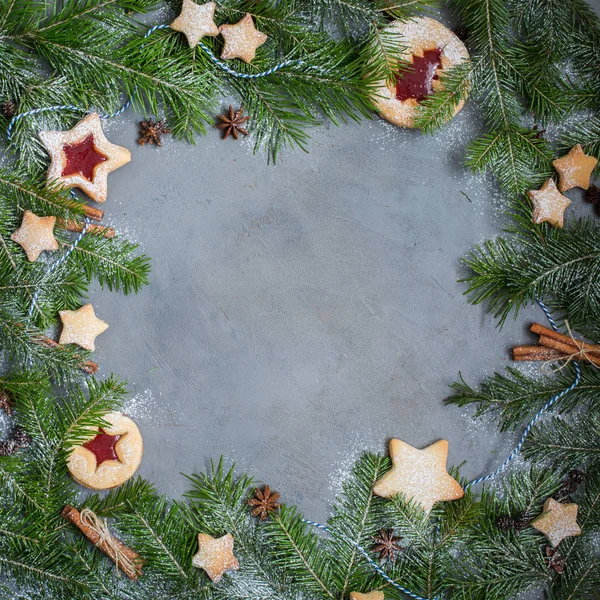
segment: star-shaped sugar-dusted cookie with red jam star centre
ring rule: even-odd
[[[50,155],[48,181],[60,188],[78,187],[96,202],[106,200],[108,174],[131,160],[127,148],[106,139],[96,113],[68,131],[41,131],[39,135]]]

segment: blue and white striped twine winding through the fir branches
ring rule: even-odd
[[[144,38],[149,37],[150,35],[152,35],[155,31],[158,31],[159,29],[168,29],[168,28],[170,28],[169,25],[164,25],[164,24],[163,25],[155,25],[154,27],[150,28],[146,32],[146,34],[144,35]],[[311,69],[322,70],[322,69],[320,69],[320,67],[314,67],[312,65],[307,64],[302,59],[289,59],[289,60],[285,60],[285,61],[275,65],[274,67],[271,67],[270,69],[267,69],[266,71],[263,71],[261,73],[239,73],[238,71],[231,69],[223,61],[219,60],[213,54],[212,50],[208,46],[206,46],[202,42],[200,42],[198,45],[200,46],[200,48],[202,48],[202,50],[204,50],[204,52],[212,60],[213,63],[215,63],[218,67],[223,69],[223,71],[225,71],[229,75],[232,75],[233,77],[239,77],[240,79],[258,79],[260,77],[267,77],[268,75],[272,75],[273,73],[279,71],[280,69],[283,69],[284,67],[288,67],[291,65],[306,66]],[[127,100],[127,102],[125,102],[125,104],[123,104],[123,106],[121,108],[119,108],[119,110],[117,110],[116,112],[114,112],[112,114],[100,115],[100,118],[101,119],[112,119],[114,117],[119,116],[121,113],[123,113],[125,110],[127,110],[130,106],[131,106],[131,100]],[[55,112],[55,111],[61,111],[61,110],[71,110],[73,112],[83,112],[83,113],[88,112],[88,109],[84,109],[79,106],[73,106],[70,104],[64,104],[64,105],[58,105],[58,106],[48,106],[46,108],[36,108],[34,110],[29,110],[27,112],[18,114],[11,119],[10,123],[8,124],[7,132],[6,132],[8,140],[10,141],[12,138],[12,130],[13,130],[15,123],[17,123],[22,118],[32,116],[32,115],[37,115],[37,114],[43,113],[43,112]],[[79,242],[83,239],[83,236],[85,235],[85,233],[87,231],[88,225],[89,225],[89,220],[86,218],[84,227],[83,227],[82,231],[79,233],[79,235],[77,236],[77,238],[74,240],[73,244],[71,244],[71,246],[67,249],[67,251],[56,262],[54,262],[51,265],[51,267],[48,269],[48,271],[44,275],[44,278],[42,279],[42,281],[44,279],[46,279],[46,277],[48,277],[48,275],[50,275],[55,269],[57,269],[69,257],[69,255],[73,252],[73,250],[75,250],[75,248],[77,247]],[[36,290],[36,292],[33,295],[33,298],[31,301],[31,307],[29,309],[29,314],[28,314],[29,318],[31,318],[31,315],[33,314],[34,306],[35,306],[38,296],[39,296],[39,289]],[[540,308],[544,311],[544,314],[546,315],[550,325],[552,326],[552,329],[554,329],[554,331],[558,331],[556,322],[552,318],[552,315],[550,314],[550,310],[548,309],[548,307],[539,299],[537,299],[537,303],[539,304]],[[465,490],[471,488],[474,485],[478,485],[485,481],[494,479],[495,477],[497,477],[498,475],[500,475],[501,473],[506,471],[506,469],[510,466],[512,461],[521,453],[523,445],[525,444],[525,440],[531,433],[531,430],[533,429],[533,427],[542,418],[542,416],[548,411],[548,409],[550,409],[550,407],[552,407],[554,404],[556,404],[559,400],[561,400],[561,398],[563,398],[566,394],[571,392],[573,389],[575,389],[579,385],[579,382],[581,381],[581,368],[577,361],[573,361],[573,365],[575,367],[575,379],[574,379],[573,383],[568,388],[566,388],[563,391],[559,392],[558,394],[552,396],[552,398],[550,398],[550,400],[548,400],[548,402],[546,402],[546,404],[544,404],[544,406],[537,412],[537,414],[533,417],[533,419],[531,419],[531,421],[525,428],[525,431],[523,432],[523,435],[521,436],[521,439],[519,440],[515,449],[509,454],[507,459],[495,471],[493,471],[489,475],[485,475],[484,477],[479,477],[477,479],[474,479],[473,481],[471,481],[470,483],[465,485]],[[331,530],[326,525],[321,525],[320,523],[316,523],[315,521],[310,521],[308,519],[303,519],[303,522],[308,525],[311,525],[313,527],[316,527],[317,529],[325,531],[327,533],[331,533]],[[390,585],[393,585],[397,590],[399,590],[403,594],[413,598],[414,600],[436,600],[435,598],[428,599],[423,596],[419,596],[418,594],[415,594],[414,592],[411,592],[410,590],[401,586],[398,582],[394,581],[391,577],[389,577],[385,573],[385,571],[369,556],[369,553],[365,550],[365,548],[363,546],[361,546],[358,542],[349,540],[348,538],[344,537],[343,539],[345,541],[347,541],[348,543],[352,544],[363,555],[363,557],[369,563],[369,565],[387,583],[389,583]]]

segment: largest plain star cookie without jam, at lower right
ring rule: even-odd
[[[383,498],[404,494],[414,500],[425,512],[436,502],[462,498],[462,486],[448,474],[448,442],[440,440],[423,450],[413,448],[402,440],[390,441],[392,469],[373,487]]]

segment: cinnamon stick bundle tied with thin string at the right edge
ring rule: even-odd
[[[515,346],[513,360],[586,360],[597,367],[600,366],[600,345],[576,340],[538,323],[531,326],[531,331],[540,336],[538,344]]]

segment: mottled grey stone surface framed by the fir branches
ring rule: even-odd
[[[431,137],[325,125],[276,166],[217,130],[138,147],[138,120],[106,127],[133,159],[103,208],[152,257],[151,285],[91,301],[110,324],[101,374],[130,383],[140,473],[159,491],[179,496],[182,473],[224,455],[323,520],[353,460],[392,436],[448,439],[467,476],[504,459],[516,436],[443,403],[459,371],[475,385],[503,369],[543,319],[531,309],[498,330],[457,282],[505,207],[461,164],[481,126],[472,103]]]

